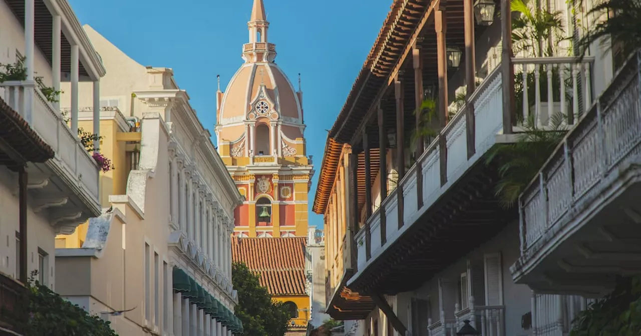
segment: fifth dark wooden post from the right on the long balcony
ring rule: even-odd
[[[401,73],[401,72],[399,72]],[[403,186],[401,180],[405,176],[405,111],[403,108],[403,83],[399,75],[394,80],[394,94],[396,98],[396,150],[397,150],[397,172],[398,181],[396,185],[396,195],[398,197],[398,227],[403,227]]]

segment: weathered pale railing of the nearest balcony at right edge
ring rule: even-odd
[[[610,87],[579,117],[520,197],[521,255],[533,255],[576,216],[578,204],[595,200],[612,172],[641,148],[641,88],[635,55]],[[543,239],[545,238],[545,239]]]

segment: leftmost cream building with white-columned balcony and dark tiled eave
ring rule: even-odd
[[[32,271],[56,289],[56,234],[101,214],[99,166],[78,136],[77,106],[79,82],[94,86],[91,105],[105,69],[65,0],[1,1],[0,45],[0,296],[13,307]],[[71,82],[69,124],[61,81]]]

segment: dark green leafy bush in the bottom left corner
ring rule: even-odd
[[[17,305],[12,316],[15,326],[25,336],[117,336],[108,321],[92,316],[83,308],[64,300],[49,287],[35,281],[31,273],[27,284],[28,305]]]

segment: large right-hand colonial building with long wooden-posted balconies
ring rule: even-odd
[[[329,132],[315,198],[326,311],[349,321],[345,335],[450,336],[466,321],[481,335],[566,335],[612,273],[638,268],[625,200],[639,56],[617,64],[597,43],[574,57],[589,6],[543,7],[565,38],[537,51],[512,38],[506,0],[392,4]],[[519,204],[501,205],[502,161],[488,154],[555,115],[571,130]]]

